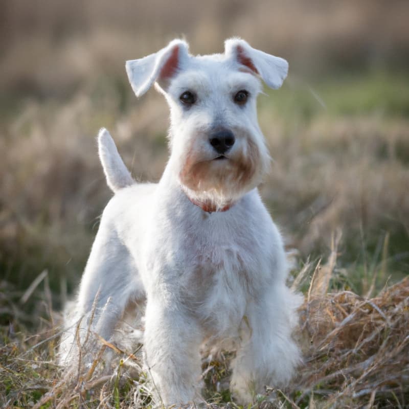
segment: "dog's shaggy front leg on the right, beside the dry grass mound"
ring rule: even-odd
[[[251,402],[265,394],[265,386],[281,388],[290,381],[301,363],[291,337],[301,303],[301,296],[276,283],[247,306],[249,334],[237,351],[231,383],[239,401]]]

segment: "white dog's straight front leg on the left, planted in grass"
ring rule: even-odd
[[[168,406],[200,400],[201,336],[185,307],[176,299],[148,294],[144,336],[157,403]]]

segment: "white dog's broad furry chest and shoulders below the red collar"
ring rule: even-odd
[[[155,214],[147,230],[141,268],[147,295],[171,294],[203,324],[226,333],[240,326],[246,306],[273,279],[271,219],[257,197],[210,215],[184,199]]]

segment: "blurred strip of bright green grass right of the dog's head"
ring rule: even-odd
[[[272,108],[288,120],[295,117],[309,122],[320,115],[385,119],[409,116],[409,81],[403,74],[341,74],[311,82],[290,75],[281,89],[266,92]]]

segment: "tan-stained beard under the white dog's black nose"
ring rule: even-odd
[[[191,200],[202,203],[204,208],[220,210],[255,188],[267,164],[268,159],[251,140],[241,152],[223,159],[201,160],[200,154],[191,150],[179,180]]]

